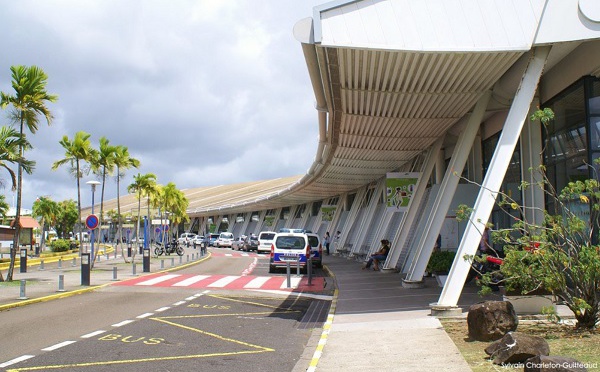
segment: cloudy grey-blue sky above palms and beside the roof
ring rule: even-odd
[[[37,162],[23,180],[23,208],[38,196],[77,200],[59,141],[105,136],[179,189],[303,174],[315,155],[314,95],[292,29],[325,0],[1,1],[0,90],[12,65],[48,75],[54,121],[30,141]],[[8,110],[0,124],[8,125]],[[9,176],[0,193],[14,203]],[[84,177],[82,182],[93,179]],[[105,199],[116,197],[114,177]],[[99,200],[99,193],[96,193]],[[91,193],[82,188],[82,204]]]

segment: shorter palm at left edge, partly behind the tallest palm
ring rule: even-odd
[[[21,156],[21,148],[29,149],[31,148],[31,144],[29,144],[25,137],[21,137],[21,135],[19,135],[19,132],[17,132],[16,129],[12,127],[1,127],[0,168],[6,169],[6,171],[10,175],[12,190],[15,190],[17,188],[17,178],[15,172],[9,165],[19,164],[27,174],[31,174],[35,166],[35,162],[26,160]],[[4,215],[6,215],[6,212],[4,213]],[[8,267],[8,274],[6,276],[6,279],[9,281],[12,280],[12,273],[17,257],[16,253],[17,249],[13,245],[13,248],[10,250],[10,264]],[[2,281],[4,281],[4,277],[2,276],[2,273],[0,273],[0,282]]]

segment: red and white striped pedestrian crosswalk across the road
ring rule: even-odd
[[[322,277],[312,278],[308,283],[307,276],[290,277],[288,287],[286,276],[252,276],[252,275],[193,275],[193,274],[154,274],[115,283],[121,286],[140,287],[175,287],[175,288],[212,288],[228,290],[289,290],[289,291],[321,291],[324,287]]]

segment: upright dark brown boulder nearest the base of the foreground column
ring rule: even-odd
[[[485,301],[471,305],[467,315],[469,337],[477,341],[496,341],[519,325],[519,318],[508,301]]]

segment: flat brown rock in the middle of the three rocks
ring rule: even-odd
[[[538,355],[550,354],[550,346],[541,337],[520,332],[509,332],[485,348],[494,364],[522,363]]]

